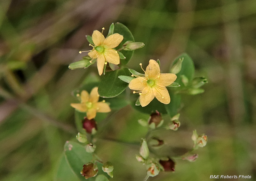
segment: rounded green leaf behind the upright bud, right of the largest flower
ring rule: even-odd
[[[188,54],[183,53],[180,56],[178,56],[175,61],[173,62],[173,65],[179,60],[179,59],[183,59],[182,61],[182,65],[181,65],[181,69],[180,72],[177,75],[177,79],[176,79],[176,83],[180,84],[180,89],[184,88],[185,85],[182,82],[182,76],[184,75],[185,77],[188,78],[188,82],[191,82],[192,79],[194,78],[194,73],[195,73],[195,66],[194,66],[194,62],[192,61],[192,59],[188,56]],[[171,71],[171,70],[170,70]],[[184,78],[183,76],[183,78]]]

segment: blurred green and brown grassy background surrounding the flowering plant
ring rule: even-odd
[[[161,134],[175,147],[196,129],[208,136],[206,147],[197,151],[196,162],[177,159],[174,173],[149,180],[256,179],[255,0],[2,0],[0,180],[54,180],[65,141],[77,133],[71,92],[92,72],[97,75],[96,66],[70,70],[68,64],[85,56],[80,50],[91,49],[85,35],[102,27],[106,34],[112,22],[123,23],[145,43],[129,68],[139,71],[140,62],[160,59],[165,73],[186,52],[196,76],[209,81],[203,94],[182,97],[180,130]],[[135,159],[138,145],[104,140],[139,142],[146,134],[140,118],[148,115],[128,105],[101,133],[97,153],[114,164],[113,181],[146,175]]]

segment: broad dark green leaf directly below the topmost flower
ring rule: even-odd
[[[121,94],[128,83],[120,80],[118,76],[130,76],[129,69],[124,67],[111,72],[106,72],[99,83],[98,93],[102,98],[113,98]]]

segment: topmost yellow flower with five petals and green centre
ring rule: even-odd
[[[118,65],[120,63],[119,54],[113,48],[117,47],[121,41],[124,39],[123,35],[118,33],[114,33],[108,36],[106,39],[102,33],[98,30],[93,31],[92,33],[92,41],[94,43],[93,49],[88,55],[92,59],[97,58],[97,67],[99,71],[99,75],[103,72],[104,64],[113,63]]]

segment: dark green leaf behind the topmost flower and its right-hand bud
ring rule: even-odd
[[[119,34],[121,34],[121,35],[124,36],[123,41],[116,47],[116,50],[122,48],[123,44],[124,44],[126,41],[134,41],[134,38],[133,38],[132,33],[131,33],[130,30],[129,30],[125,25],[123,25],[122,23],[115,23],[114,33],[119,33]],[[120,60],[120,63],[121,63],[121,65],[125,65],[125,64],[127,64],[127,63],[130,61],[130,59],[132,58],[132,55],[133,55],[133,53],[134,53],[134,50],[132,50],[132,51],[120,50],[120,52],[121,52],[122,54],[124,54],[124,56],[126,57],[126,59]]]

